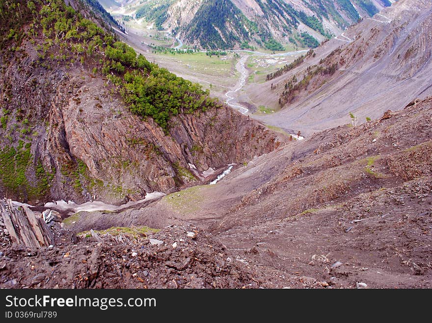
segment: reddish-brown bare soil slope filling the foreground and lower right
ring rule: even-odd
[[[162,246],[110,235],[73,245],[62,231],[61,245],[33,250],[0,237],[0,287],[431,288],[432,99],[390,115],[325,130],[173,197],[194,207],[179,211],[167,197],[69,227],[163,228],[152,237]]]

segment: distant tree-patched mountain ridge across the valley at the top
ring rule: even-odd
[[[394,0],[100,0],[204,49],[317,47]]]

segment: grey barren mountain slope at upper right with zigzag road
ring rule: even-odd
[[[349,123],[350,112],[364,122],[382,115],[389,104],[405,106],[431,95],[431,10],[430,1],[400,0],[327,42],[302,64],[270,75],[267,92],[250,87],[255,104],[282,108],[258,118],[311,134]]]

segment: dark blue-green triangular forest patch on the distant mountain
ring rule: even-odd
[[[231,1],[208,0],[185,28],[185,39],[199,40],[202,48],[232,49],[235,43],[249,39],[247,26],[255,28]]]

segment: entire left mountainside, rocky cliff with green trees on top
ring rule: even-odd
[[[284,142],[137,56],[84,18],[93,16],[85,3],[68,3],[77,10],[61,0],[1,3],[4,196],[141,199],[206,182]]]

